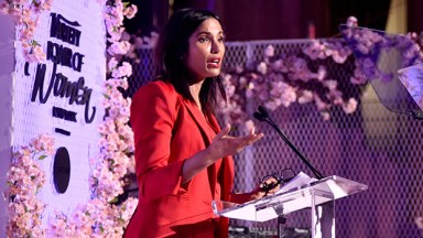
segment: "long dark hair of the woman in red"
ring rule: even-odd
[[[159,79],[170,82],[178,94],[192,101],[194,98],[189,91],[188,69],[184,57],[188,53],[189,36],[209,18],[216,19],[221,25],[219,17],[207,10],[183,9],[174,12],[161,32],[155,48]],[[207,115],[215,113],[218,91],[226,100],[221,76],[206,78],[199,91],[199,101]]]

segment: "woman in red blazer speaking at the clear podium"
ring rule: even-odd
[[[160,35],[160,76],[132,99],[139,205],[126,237],[227,237],[228,219],[214,216],[212,201],[264,195],[231,194],[231,155],[263,134],[220,130],[214,109],[218,91],[226,98],[224,55],[220,20],[209,11],[177,11]]]

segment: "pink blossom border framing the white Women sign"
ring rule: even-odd
[[[50,217],[47,227],[42,226],[42,214],[45,204],[36,198],[37,191],[45,182],[44,172],[31,160],[31,156],[41,154],[39,160],[54,153],[53,140],[47,136],[40,136],[30,147],[22,148],[13,159],[9,172],[10,199],[8,224],[9,237],[121,237],[123,228],[129,223],[138,201],[128,198],[120,203],[117,199],[123,193],[128,171],[133,171],[133,134],[129,122],[129,107],[131,100],[123,98],[121,90],[128,88],[128,77],[132,67],[127,62],[120,62],[121,55],[130,50],[130,43],[121,37],[123,18],[133,18],[137,7],[121,0],[106,1],[104,18],[108,33],[108,80],[105,83],[106,109],[104,122],[98,131],[100,153],[91,160],[94,167],[89,180],[93,190],[93,199],[79,205],[70,215],[55,212]],[[23,45],[28,62],[45,60],[45,54],[39,44],[32,40],[37,24],[37,15],[43,10],[50,10],[52,0],[46,1],[6,1],[2,11],[14,15],[20,31],[20,41]],[[34,6],[34,8],[26,8]],[[22,17],[24,14],[25,17]],[[34,17],[36,15],[36,17]],[[35,18],[35,20],[32,20]],[[29,176],[30,175],[30,176]],[[118,203],[119,202],[119,203]]]

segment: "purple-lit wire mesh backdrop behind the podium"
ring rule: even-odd
[[[341,43],[339,39],[330,41]],[[225,71],[263,61],[268,45],[274,46],[275,55],[302,55],[303,48],[312,43],[311,40],[227,42]],[[145,47],[138,53],[141,64],[134,65],[129,96],[154,78],[153,51]],[[370,86],[350,85],[354,57],[345,64],[307,60],[308,67],[318,65],[325,65],[328,78],[338,79],[344,91],[360,100],[357,111],[346,115],[340,107],[334,107],[330,120],[325,121],[313,104],[293,104],[271,113],[324,175],[338,175],[369,186],[368,191],[336,202],[336,237],[421,237],[414,219],[423,214],[422,121],[386,109]],[[248,115],[251,116],[257,106],[253,99],[247,101]],[[254,120],[252,116],[251,119]],[[286,167],[313,176],[270,126],[259,121],[256,125],[265,136],[235,156],[236,191],[249,191],[262,176]],[[307,210],[292,214],[286,226],[304,228],[310,224],[308,215]],[[235,219],[231,224],[246,225]],[[261,235],[275,236],[275,220],[247,225]]]

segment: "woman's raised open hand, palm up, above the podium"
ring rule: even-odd
[[[228,136],[229,131],[230,125],[227,125],[218,134],[216,134],[210,145],[207,148],[210,156],[215,160],[236,154],[247,145],[263,138],[263,133],[257,134],[254,128],[252,128],[249,134],[245,137],[230,137]]]

